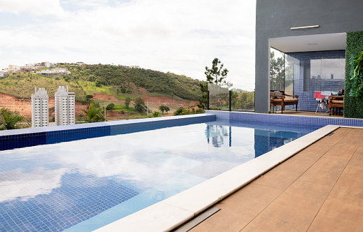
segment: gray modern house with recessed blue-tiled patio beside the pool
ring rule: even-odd
[[[347,32],[363,30],[362,8],[353,0],[256,0],[255,112],[270,111],[272,52],[285,62],[274,90],[299,95],[299,110],[315,111],[315,91],[344,89]]]

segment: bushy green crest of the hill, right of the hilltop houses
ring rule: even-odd
[[[188,100],[196,100],[200,96],[200,81],[185,75],[102,64],[67,68],[71,71],[71,75],[68,75],[69,80],[78,81],[86,92],[100,92],[104,89],[105,94],[125,97],[125,94],[137,96],[137,92],[144,88],[150,93],[178,96]]]

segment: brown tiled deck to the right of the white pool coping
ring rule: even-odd
[[[220,201],[191,231],[363,231],[363,129],[333,133]]]

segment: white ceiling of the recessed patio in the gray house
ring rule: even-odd
[[[270,38],[270,47],[281,52],[345,50],[346,33]]]

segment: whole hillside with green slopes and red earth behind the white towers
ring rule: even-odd
[[[100,106],[114,103],[116,108],[107,112],[108,119],[132,119],[147,117],[133,109],[133,100],[140,97],[149,109],[158,111],[164,105],[174,112],[180,107],[196,104],[200,95],[199,81],[174,73],[161,73],[141,68],[119,66],[67,66],[71,75],[43,76],[36,73],[13,73],[0,80],[0,108],[19,111],[31,118],[31,96],[34,87],[45,88],[49,96],[50,119],[54,116],[54,93],[58,86],[69,86],[69,92],[76,93],[76,116],[82,115],[89,101],[86,95],[93,95],[93,101]],[[130,108],[125,108],[125,99],[132,99]],[[165,113],[166,115],[166,113]]]

